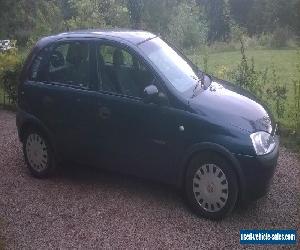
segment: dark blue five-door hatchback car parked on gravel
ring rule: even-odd
[[[146,177],[181,188],[210,219],[264,195],[279,152],[254,96],[144,31],[41,39],[20,78],[17,127],[36,177],[61,160]]]

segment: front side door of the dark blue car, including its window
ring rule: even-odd
[[[97,44],[99,161],[123,172],[163,179],[180,150],[180,111],[145,103],[143,90],[157,76],[120,44]],[[162,91],[162,87],[159,86]]]

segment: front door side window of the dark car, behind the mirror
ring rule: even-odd
[[[152,72],[130,51],[105,44],[98,49],[98,73],[100,89],[133,97],[142,97],[154,80]]]

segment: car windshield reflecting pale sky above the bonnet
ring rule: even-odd
[[[196,67],[159,37],[141,43],[140,48],[179,92],[199,85]]]

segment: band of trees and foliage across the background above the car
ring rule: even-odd
[[[129,26],[172,36],[187,48],[198,38],[237,42],[240,30],[249,43],[261,37],[270,45],[272,36],[274,47],[285,46],[292,33],[300,36],[300,0],[1,0],[0,16],[0,39],[19,46],[66,30]]]

